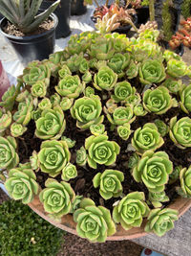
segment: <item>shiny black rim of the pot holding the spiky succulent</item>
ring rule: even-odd
[[[41,10],[40,10],[41,11]],[[26,35],[26,36],[16,36],[16,35],[9,35],[9,34],[7,34],[7,33],[5,33],[4,31],[3,31],[3,29],[2,29],[2,27],[3,27],[3,23],[4,22],[7,22],[8,21],[8,19],[6,18],[6,17],[3,17],[1,20],[0,20],[0,33],[2,34],[2,35],[4,35],[5,37],[8,37],[8,38],[10,38],[10,39],[16,39],[16,40],[32,40],[32,39],[37,39],[37,38],[39,38],[39,37],[42,37],[42,35],[44,36],[44,35],[49,35],[52,31],[54,31],[55,30],[55,28],[57,27],[57,24],[58,24],[58,18],[57,18],[57,16],[54,14],[54,13],[52,13],[51,15],[50,15],[50,17],[53,19],[53,28],[51,28],[50,30],[48,30],[48,31],[46,31],[46,32],[43,32],[43,33],[41,33],[41,34],[38,34],[38,35]]]

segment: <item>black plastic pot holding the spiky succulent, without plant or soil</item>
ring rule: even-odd
[[[8,20],[3,18],[0,21],[0,33],[3,34],[11,43],[18,58],[26,66],[30,61],[49,58],[53,54],[55,45],[55,28],[58,20],[55,14],[50,16],[53,19],[53,28],[39,35],[15,36],[8,35],[4,32],[4,28],[8,24]]]

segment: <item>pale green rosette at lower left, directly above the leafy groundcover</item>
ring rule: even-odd
[[[11,198],[15,200],[22,199],[25,204],[30,203],[38,193],[38,183],[31,165],[25,164],[11,169],[9,178],[5,182],[5,187]]]

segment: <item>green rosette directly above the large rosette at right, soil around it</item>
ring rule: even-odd
[[[147,123],[143,128],[138,128],[134,132],[132,138],[132,146],[138,153],[142,154],[145,151],[156,151],[164,144],[158,128],[153,123]]]

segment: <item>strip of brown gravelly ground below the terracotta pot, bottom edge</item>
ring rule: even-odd
[[[69,233],[64,236],[64,241],[57,256],[139,256],[143,249],[130,241],[91,244]]]

